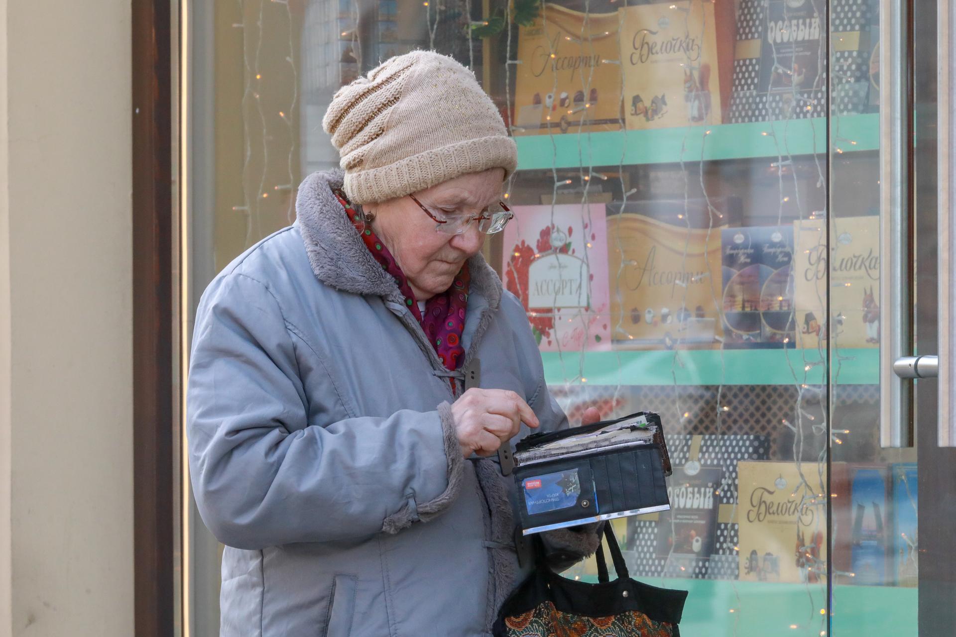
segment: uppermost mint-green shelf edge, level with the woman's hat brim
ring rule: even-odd
[[[837,152],[880,147],[880,115],[831,118]],[[710,133],[706,134],[709,130]],[[645,131],[516,136],[521,170],[752,159],[826,151],[827,119],[789,119]],[[852,143],[856,142],[856,143]]]

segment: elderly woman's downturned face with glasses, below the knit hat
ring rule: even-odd
[[[439,183],[415,193],[415,197],[429,210],[448,217],[477,215],[501,201],[504,179],[504,169],[493,168]],[[395,257],[418,301],[451,287],[462,265],[485,242],[478,223],[471,223],[460,235],[436,230],[436,223],[411,197],[368,204],[365,208],[375,213],[372,229]]]

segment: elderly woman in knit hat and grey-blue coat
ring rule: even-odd
[[[511,219],[516,148],[437,53],[344,87],[324,126],[344,174],[305,180],[296,222],[228,265],[196,318],[189,461],[226,544],[221,635],[488,635],[533,562],[489,457],[567,426],[480,254]],[[567,565],[597,537],[545,545]]]

